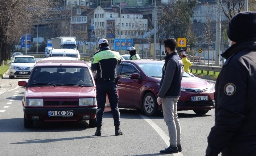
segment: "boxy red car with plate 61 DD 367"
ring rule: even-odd
[[[22,100],[24,127],[33,121],[89,120],[96,126],[96,90],[92,73],[84,61],[44,60],[35,64],[26,81]]]

